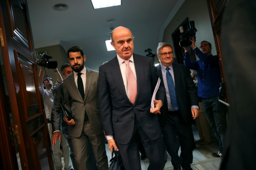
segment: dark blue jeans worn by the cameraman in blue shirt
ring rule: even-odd
[[[220,144],[220,152],[222,152],[227,129],[226,106],[218,101],[218,95],[202,99],[202,102],[206,118]]]

